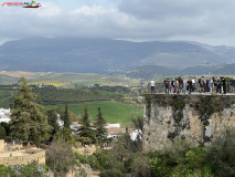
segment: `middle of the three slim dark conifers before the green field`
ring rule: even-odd
[[[94,131],[92,129],[92,126],[90,126],[90,119],[89,119],[89,115],[87,112],[87,107],[84,108],[84,115],[81,118],[81,127],[78,131],[79,131],[81,138],[86,137],[86,138],[89,138],[93,143],[95,142],[95,135],[94,135]]]

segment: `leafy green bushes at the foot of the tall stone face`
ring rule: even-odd
[[[210,163],[204,160],[205,147],[192,148],[191,145],[178,139],[164,152],[149,152],[150,169],[153,176],[165,177],[213,177]]]

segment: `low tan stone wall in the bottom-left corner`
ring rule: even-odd
[[[9,154],[9,157],[1,157],[0,154],[0,165],[6,166],[21,165],[21,164],[26,165],[33,162],[38,162],[39,164],[45,164],[45,150],[43,149],[26,150],[25,154],[21,156],[14,156],[17,152],[6,152],[6,153]],[[10,154],[12,155],[11,157]]]

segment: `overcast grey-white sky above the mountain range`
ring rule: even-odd
[[[30,37],[70,35],[136,41],[189,40],[235,46],[235,0],[36,2],[42,8],[0,7],[0,43]]]

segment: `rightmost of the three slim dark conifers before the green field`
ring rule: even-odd
[[[98,114],[96,116],[97,116],[97,119],[95,123],[96,139],[102,145],[103,143],[107,140],[107,128],[105,127],[106,121],[103,117],[100,107],[98,107]]]

